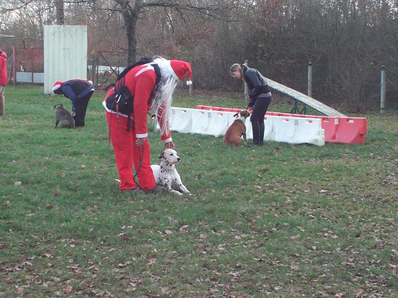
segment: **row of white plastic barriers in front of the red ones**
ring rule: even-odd
[[[185,109],[173,107],[170,130],[180,133],[223,136],[235,121],[235,112]],[[245,121],[246,139],[253,139],[250,118]],[[325,145],[325,131],[321,119],[286,116],[265,116],[264,141],[290,144]],[[157,126],[159,129],[159,126]]]

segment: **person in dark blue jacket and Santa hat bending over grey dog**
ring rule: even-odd
[[[87,105],[94,93],[93,82],[85,79],[56,81],[52,91],[55,94],[65,95],[72,101],[72,116],[75,119],[75,126],[85,126]]]

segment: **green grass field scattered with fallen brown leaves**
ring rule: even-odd
[[[193,195],[131,196],[115,182],[103,92],[75,130],[54,129],[65,97],[37,86],[5,97],[1,297],[398,296],[396,113],[352,115],[368,119],[361,145],[235,150],[173,133]],[[175,96],[198,104],[242,107],[233,93]],[[159,133],[149,139],[158,163]]]

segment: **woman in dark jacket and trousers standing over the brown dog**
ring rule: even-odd
[[[250,122],[253,130],[252,146],[262,146],[264,141],[264,116],[271,103],[272,95],[267,80],[259,71],[248,68],[245,64],[233,64],[229,74],[237,79],[244,79],[249,91],[250,102],[246,108],[252,109]]]

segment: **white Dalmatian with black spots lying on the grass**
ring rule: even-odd
[[[160,153],[159,159],[162,160],[160,165],[151,165],[156,183],[166,187],[175,195],[181,196],[182,193],[171,188],[174,184],[177,185],[183,193],[191,194],[191,192],[184,186],[183,182],[181,182],[180,175],[176,170],[175,164],[181,160],[181,158],[178,157],[177,152],[173,149],[166,149]]]

